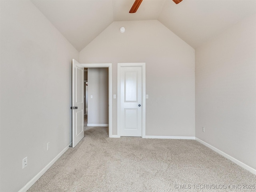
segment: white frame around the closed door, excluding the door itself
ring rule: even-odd
[[[120,137],[121,122],[121,101],[120,101],[120,80],[121,67],[142,67],[142,138],[146,138],[146,63],[118,63],[117,64],[117,136]]]

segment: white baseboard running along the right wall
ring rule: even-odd
[[[251,173],[253,173],[253,174],[256,175],[256,169],[254,169],[254,168],[252,168],[252,167],[250,167],[250,166],[244,164],[243,162],[240,162],[240,161],[237,160],[236,158],[234,158],[234,157],[232,157],[232,156],[230,156],[230,155],[224,153],[223,151],[217,149],[216,147],[214,147],[214,146],[212,146],[212,145],[210,145],[210,144],[208,144],[208,143],[206,143],[206,142],[204,142],[204,141],[202,141],[202,140],[200,140],[200,139],[198,139],[198,138],[196,138],[196,140],[197,140],[198,142],[202,143],[203,145],[205,145],[206,147],[208,147],[208,148],[214,150],[214,151],[217,152],[218,154],[220,154],[220,155],[226,157],[227,159],[231,160],[231,161],[234,162],[235,164],[241,166],[242,168],[245,168],[246,170],[248,170],[248,171],[250,171]]]

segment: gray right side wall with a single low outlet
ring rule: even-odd
[[[255,31],[254,15],[196,49],[196,137],[254,169]]]

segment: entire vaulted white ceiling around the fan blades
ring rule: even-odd
[[[256,0],[32,0],[78,50],[114,21],[159,20],[193,48],[256,13]]]

